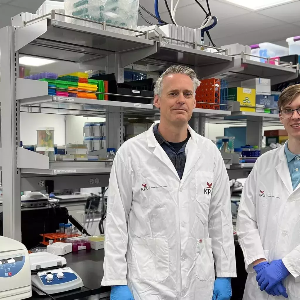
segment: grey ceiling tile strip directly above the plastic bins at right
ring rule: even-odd
[[[241,31],[243,32],[243,31]],[[253,45],[263,42],[274,43],[285,40],[288,37],[299,35],[299,27],[293,24],[285,24],[276,27],[263,28],[251,32],[243,32],[222,38],[212,38],[217,46],[239,43],[242,45]],[[288,47],[288,44],[281,44]]]

